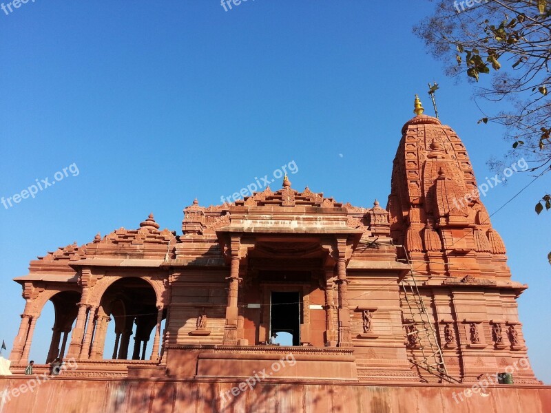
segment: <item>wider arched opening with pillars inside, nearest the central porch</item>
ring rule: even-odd
[[[94,337],[94,341],[101,343],[101,346],[96,346],[90,357],[156,360],[161,324],[166,317],[165,311],[158,313],[156,302],[154,288],[143,279],[125,277],[114,282],[101,298],[97,316],[97,320],[101,321],[96,324],[97,338]],[[153,344],[149,357],[150,341]]]

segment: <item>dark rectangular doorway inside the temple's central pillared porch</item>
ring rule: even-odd
[[[271,293],[271,332],[288,332],[293,346],[300,346],[300,294]]]

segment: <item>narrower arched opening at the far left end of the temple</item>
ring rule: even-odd
[[[35,337],[52,337],[50,346],[30,349],[30,360],[50,363],[56,357],[63,359],[71,342],[71,332],[76,315],[79,311],[77,304],[81,294],[76,291],[62,291],[57,293],[41,309],[40,321],[34,331]],[[52,327],[50,327],[52,326]]]

